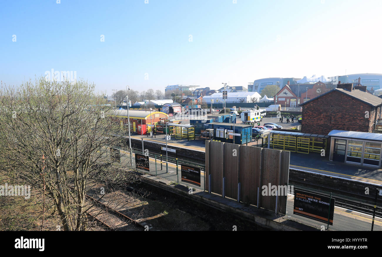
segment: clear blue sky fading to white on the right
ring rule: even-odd
[[[51,69],[76,71],[111,95],[126,85],[217,89],[345,69],[382,73],[381,2],[2,1],[0,80],[18,85]]]

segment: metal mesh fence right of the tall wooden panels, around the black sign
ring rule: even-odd
[[[377,201],[360,201],[357,198],[292,184],[288,190],[284,218],[315,227],[334,231],[382,231],[382,207]],[[293,186],[293,187],[292,187]],[[293,214],[295,190],[321,194],[335,199],[333,225]]]

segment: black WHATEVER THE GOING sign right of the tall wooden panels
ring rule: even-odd
[[[333,225],[334,203],[334,198],[330,202],[330,198],[327,196],[295,190],[293,214],[328,223],[330,206],[329,225]]]

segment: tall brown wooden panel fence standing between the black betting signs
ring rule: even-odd
[[[206,141],[206,190],[273,211],[277,200],[276,212],[285,214],[289,157],[289,151]]]

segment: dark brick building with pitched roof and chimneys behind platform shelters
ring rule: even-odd
[[[327,135],[331,130],[374,132],[381,116],[382,99],[353,89],[352,84],[337,88],[305,103],[302,113],[302,133]]]

